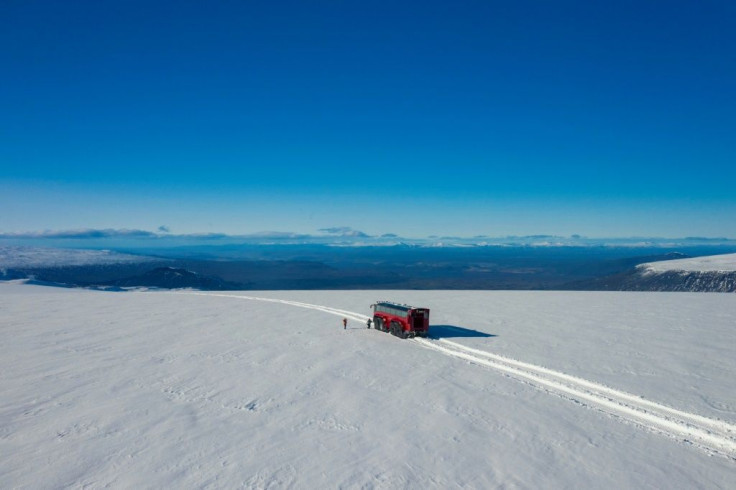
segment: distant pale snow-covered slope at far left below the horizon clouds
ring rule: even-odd
[[[159,260],[110,250],[79,250],[44,247],[0,247],[0,268],[66,267],[99,264],[126,264]]]

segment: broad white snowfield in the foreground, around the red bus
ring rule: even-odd
[[[384,298],[437,338],[366,329]],[[736,486],[734,295],[4,283],[0,312],[2,488]]]

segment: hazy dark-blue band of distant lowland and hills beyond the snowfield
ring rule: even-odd
[[[98,289],[736,291],[736,260],[731,264],[729,255],[682,260],[689,255],[660,248],[311,245],[250,248],[245,253],[253,258],[0,248],[0,280]]]

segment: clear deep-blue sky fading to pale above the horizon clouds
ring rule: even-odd
[[[732,1],[0,4],[0,232],[736,237]]]

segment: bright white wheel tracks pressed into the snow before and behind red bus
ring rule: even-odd
[[[175,293],[198,296],[246,299],[281,303],[300,308],[322,311],[332,315],[366,322],[371,317],[352,311],[257,296],[214,293]],[[720,454],[736,460],[736,425],[714,420],[694,413],[683,412],[642,397],[609,388],[582,378],[570,376],[542,366],[493,354],[446,339],[415,338],[413,342],[442,354],[490,367],[511,377],[522,379],[532,386],[598,410],[634,422],[645,429],[685,441],[711,454]]]

